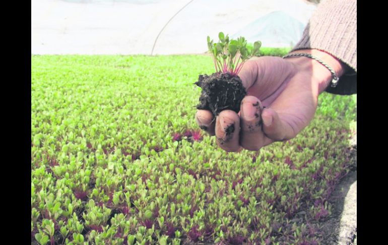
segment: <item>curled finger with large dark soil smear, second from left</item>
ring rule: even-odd
[[[217,144],[227,152],[238,152],[239,146],[240,118],[231,110],[225,110],[216,119]]]

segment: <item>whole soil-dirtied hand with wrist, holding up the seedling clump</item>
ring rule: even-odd
[[[297,52],[324,60],[338,76],[344,73],[345,65],[325,52]],[[331,81],[330,71],[307,57],[251,59],[239,77],[247,95],[238,114],[225,110],[215,120],[207,110],[196,114],[199,126],[216,135],[217,144],[227,152],[241,148],[258,151],[272,142],[295,137],[312,120],[318,95]]]

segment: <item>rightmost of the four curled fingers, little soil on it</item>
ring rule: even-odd
[[[263,131],[267,137],[282,141],[292,138],[293,129],[286,123],[284,123],[279,114],[273,109],[266,108],[262,112]]]

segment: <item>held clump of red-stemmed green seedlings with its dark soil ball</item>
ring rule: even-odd
[[[228,35],[220,32],[219,42],[213,43],[208,36],[209,52],[213,56],[216,72],[200,75],[195,84],[202,88],[199,110],[210,110],[214,116],[223,110],[238,113],[246,90],[238,73],[245,61],[259,55],[261,41],[255,41],[253,48],[247,47],[244,37],[229,40]]]

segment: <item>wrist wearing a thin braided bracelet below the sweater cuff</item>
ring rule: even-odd
[[[347,66],[344,63],[324,51],[305,49],[293,51],[290,54],[293,53],[304,53],[316,57],[332,68],[337,77],[341,77],[347,70]],[[311,86],[315,88],[316,95],[319,95],[330,86],[333,74],[320,62],[308,57],[290,57],[287,60],[296,65],[298,72],[305,72],[311,77]]]

